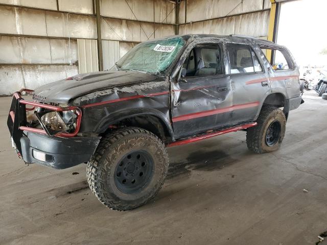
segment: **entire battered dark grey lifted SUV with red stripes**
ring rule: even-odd
[[[287,69],[266,58],[276,51]],[[290,110],[303,103],[287,48],[245,36],[146,41],[111,70],[24,91],[34,101],[14,93],[8,116],[17,154],[59,169],[87,163],[90,189],[114,210],[156,195],[168,171],[167,147],[243,130],[250,150],[272,152]]]

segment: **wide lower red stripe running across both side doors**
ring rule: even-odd
[[[198,117],[211,116],[211,115],[220,114],[220,113],[224,113],[224,112],[228,112],[228,111],[256,107],[259,105],[260,105],[259,101],[256,101],[256,102],[240,104],[240,105],[235,105],[235,106],[229,106],[229,107],[219,108],[219,109],[214,109],[214,110],[209,110],[209,111],[195,112],[195,113],[191,113],[191,114],[173,117],[172,121],[176,122],[176,121],[194,119],[194,118],[198,118]]]

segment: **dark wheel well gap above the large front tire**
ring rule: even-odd
[[[153,115],[138,115],[122,119],[118,122],[115,122],[113,125],[110,125],[108,130],[106,130],[104,134],[110,133],[114,129],[124,127],[142,128],[155,134],[165,143],[171,141],[171,134],[169,133],[165,122]]]

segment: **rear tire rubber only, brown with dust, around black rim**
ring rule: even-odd
[[[274,145],[268,146],[266,144],[266,133],[272,122],[276,120],[281,125],[279,139]],[[286,117],[284,112],[276,107],[263,106],[256,122],[258,122],[257,126],[248,128],[246,131],[246,144],[248,149],[260,154],[278,150],[284,139],[286,129]]]

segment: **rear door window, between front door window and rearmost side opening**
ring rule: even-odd
[[[260,72],[262,66],[249,45],[227,44],[230,73]]]

